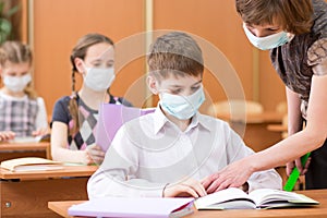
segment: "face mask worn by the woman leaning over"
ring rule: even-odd
[[[249,31],[245,24],[243,24],[243,29],[250,43],[262,50],[277,48],[289,43],[292,39],[292,37],[289,37],[288,33],[286,32],[279,32],[277,34],[272,34],[265,37],[256,37],[251,33],[251,31]]]

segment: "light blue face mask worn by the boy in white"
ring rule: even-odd
[[[190,96],[172,95],[169,93],[160,94],[161,108],[171,116],[187,120],[192,118],[205,100],[203,87],[198,88]]]

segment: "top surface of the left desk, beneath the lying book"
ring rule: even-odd
[[[31,179],[48,179],[48,178],[62,178],[62,177],[89,177],[98,166],[63,166],[60,170],[47,171],[29,171],[29,172],[11,172],[0,168],[0,179],[3,180],[31,180]]]

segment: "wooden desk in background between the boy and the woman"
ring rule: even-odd
[[[246,117],[220,114],[218,118],[229,122],[230,126],[243,137],[245,144],[255,152],[265,149],[282,140],[279,132],[269,131],[267,126],[281,124],[283,113],[264,111],[262,113],[247,114]]]

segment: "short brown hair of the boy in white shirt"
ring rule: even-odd
[[[152,75],[166,78],[203,75],[202,51],[196,41],[185,33],[171,32],[156,39],[150,46],[147,63]]]

